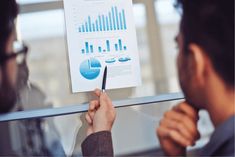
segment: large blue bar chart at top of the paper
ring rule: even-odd
[[[78,27],[78,32],[91,33],[126,30],[125,14],[124,9],[119,11],[117,6],[113,6],[107,14],[99,14],[94,19],[88,16],[85,22]]]

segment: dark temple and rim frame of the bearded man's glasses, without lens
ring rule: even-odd
[[[22,44],[23,48],[17,52],[11,52],[10,54],[4,54],[4,55],[0,55],[0,65],[5,64],[8,60],[12,59],[12,58],[17,58],[17,56],[24,54],[26,59],[26,56],[28,54],[28,46],[26,44]]]

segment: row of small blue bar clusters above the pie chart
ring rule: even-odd
[[[81,50],[81,53],[92,54],[95,52],[105,53],[105,52],[122,52],[122,51],[127,51],[127,46],[123,44],[122,39],[118,39],[116,42],[105,40],[103,41],[102,44],[96,46],[92,42],[86,41],[84,44],[84,48]]]

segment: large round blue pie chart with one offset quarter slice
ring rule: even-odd
[[[80,65],[80,73],[87,80],[96,79],[100,75],[100,69],[100,61],[95,58],[87,59]]]

